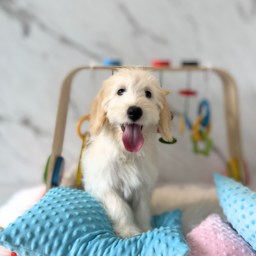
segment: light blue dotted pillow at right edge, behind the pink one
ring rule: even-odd
[[[233,228],[256,250],[256,193],[234,180],[214,174],[218,198]]]

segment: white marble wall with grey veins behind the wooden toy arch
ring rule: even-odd
[[[0,204],[17,189],[42,182],[61,82],[73,68],[103,58],[123,65],[198,60],[230,72],[238,86],[244,158],[256,183],[256,0],[0,0]],[[74,79],[65,170],[79,158],[76,122],[110,75],[90,70]],[[228,159],[223,92],[215,74],[206,88],[204,73],[193,73],[198,95],[189,110],[193,120],[198,100],[210,100],[215,150],[209,158],[195,156],[189,132],[178,133],[184,99],[177,90],[185,81],[186,73],[164,73],[178,143],[158,144],[160,183],[211,182],[210,173],[224,171]]]

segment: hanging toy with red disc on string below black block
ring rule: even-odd
[[[197,66],[197,62],[183,62],[183,66]],[[189,110],[189,97],[195,96],[197,92],[195,90],[191,89],[191,84],[192,84],[192,71],[188,70],[187,71],[187,77],[186,77],[186,88],[183,90],[179,91],[179,94],[183,97],[184,99],[184,112],[180,114],[180,129],[179,132],[180,134],[183,134],[185,132],[185,126],[189,130],[192,129],[191,122],[188,118],[188,110]]]

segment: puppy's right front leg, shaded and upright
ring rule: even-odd
[[[134,198],[134,216],[139,227],[143,232],[153,230],[151,226],[150,200],[152,190],[144,187],[135,195]]]

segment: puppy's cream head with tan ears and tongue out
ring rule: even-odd
[[[122,68],[94,98],[90,111],[90,133],[112,131],[126,150],[137,152],[144,137],[159,128],[165,141],[172,141],[171,112],[155,76],[141,67]]]

